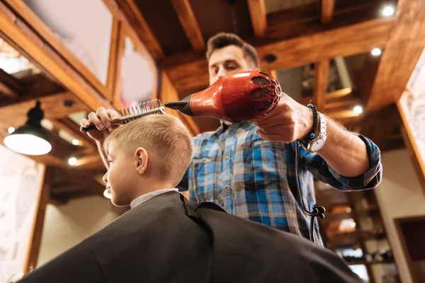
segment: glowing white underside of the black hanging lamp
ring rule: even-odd
[[[4,138],[4,145],[20,154],[42,155],[52,150],[48,141],[33,134],[11,134]]]

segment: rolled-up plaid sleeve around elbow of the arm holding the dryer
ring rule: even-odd
[[[358,134],[358,137],[365,143],[369,158],[369,169],[357,177],[346,177],[340,175],[331,168],[319,154],[311,153],[300,146],[300,158],[302,158],[305,168],[310,171],[315,178],[322,180],[338,190],[363,190],[377,187],[382,180],[382,164],[380,162],[380,149],[370,139]],[[295,142],[292,144],[295,150]],[[301,162],[302,162],[301,161]],[[349,161],[347,161],[349,162]]]

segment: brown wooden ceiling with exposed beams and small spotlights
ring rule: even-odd
[[[376,140],[383,150],[403,146],[393,104],[425,46],[423,0],[106,2],[118,9],[120,17],[125,18],[125,23],[162,68],[163,102],[181,99],[207,87],[206,41],[222,31],[237,33],[256,47],[263,71],[280,76],[285,69],[302,68],[303,76],[309,76],[312,85],[307,91],[304,89],[311,84],[307,78],[297,86],[302,88],[302,96],[297,98],[300,103],[314,99],[320,110],[345,125],[353,129],[363,125],[361,131]],[[69,115],[111,105],[96,91],[99,88],[84,81],[78,66],[72,68],[70,62],[55,55],[54,48],[43,44],[38,34],[3,3],[15,10],[25,10],[19,6],[23,5],[21,1],[0,2],[3,27],[0,36],[26,57],[42,60],[48,72],[42,69],[40,74],[17,79],[0,69],[1,142],[8,127],[22,125],[28,109],[40,100],[51,122],[49,135],[55,150],[34,158],[54,167],[51,187],[55,200],[67,200],[72,194],[100,193],[104,186],[98,182],[98,175],[104,168],[97,158],[96,146],[79,132]],[[380,12],[388,4],[396,7],[396,13],[385,18]],[[383,50],[382,55],[371,56],[373,48]],[[276,59],[266,60],[269,57]],[[345,78],[341,76],[341,68],[344,69],[341,58],[347,69]],[[311,76],[306,73],[309,68],[313,72]],[[353,81],[352,86],[331,85],[336,69],[340,81]],[[55,74],[56,78],[49,74]],[[72,106],[64,101],[72,101]],[[355,105],[365,106],[363,114],[353,112]],[[214,130],[219,125],[217,120],[209,118],[186,122],[192,134]],[[75,137],[82,145],[64,141],[60,131]],[[79,157],[79,161],[69,168],[67,158],[71,156]]]

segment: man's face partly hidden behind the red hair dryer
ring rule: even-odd
[[[251,70],[252,68],[244,58],[244,51],[236,45],[228,45],[215,50],[208,62],[210,85],[228,74]]]

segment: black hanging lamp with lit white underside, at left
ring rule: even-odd
[[[44,113],[37,101],[35,108],[28,111],[28,120],[25,125],[4,139],[4,145],[20,154],[42,155],[52,150],[47,133],[41,127]]]

